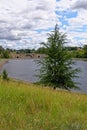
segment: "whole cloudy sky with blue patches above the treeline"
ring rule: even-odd
[[[0,45],[38,48],[59,25],[69,45],[87,43],[87,0],[0,0]]]

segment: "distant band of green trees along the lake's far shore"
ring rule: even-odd
[[[67,50],[67,53],[70,53],[73,58],[87,58],[87,45],[83,47],[64,47]],[[55,51],[55,50],[54,50]],[[38,54],[46,54],[47,50],[45,47],[40,47],[38,49],[4,49],[0,46],[0,58],[10,58],[11,53],[15,54],[27,54],[27,53],[38,53]]]

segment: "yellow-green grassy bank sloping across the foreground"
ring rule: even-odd
[[[0,79],[0,130],[87,130],[87,95]]]

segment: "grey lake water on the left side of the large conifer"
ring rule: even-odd
[[[39,79],[35,76],[37,74],[36,69],[38,66],[35,64],[33,59],[23,60],[9,60],[2,68],[6,69],[8,76],[20,79],[28,82],[36,82]]]

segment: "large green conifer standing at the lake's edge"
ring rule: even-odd
[[[77,88],[73,78],[77,77],[79,69],[74,69],[74,61],[65,49],[66,35],[59,32],[58,26],[49,34],[48,42],[43,43],[47,57],[38,60],[41,65],[40,81],[45,85],[64,89]]]

